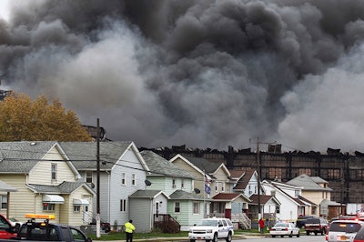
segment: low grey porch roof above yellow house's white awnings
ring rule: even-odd
[[[89,187],[83,179],[78,179],[75,182],[64,181],[58,186],[41,185],[41,184],[25,184],[30,190],[35,193],[47,194],[71,194],[79,187],[85,187],[90,193],[96,195],[95,191]]]

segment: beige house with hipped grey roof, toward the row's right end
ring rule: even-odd
[[[329,182],[319,176],[299,175],[287,182],[289,185],[301,187],[301,196],[312,202],[315,206],[306,209],[304,215],[328,217],[331,191]]]

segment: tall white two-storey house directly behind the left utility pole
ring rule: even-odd
[[[60,145],[86,183],[96,191],[96,142],[60,142]],[[114,228],[130,219],[129,196],[137,190],[146,189],[149,169],[134,142],[100,142],[99,145],[100,218]],[[93,218],[97,212],[96,197],[94,204]],[[133,222],[136,228],[144,223],[137,219]]]

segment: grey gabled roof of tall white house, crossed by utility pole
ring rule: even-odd
[[[97,143],[96,142],[60,142],[66,156],[73,162],[77,170],[95,170]],[[134,142],[112,141],[100,142],[100,170],[109,171],[123,157],[128,149],[134,149],[140,164],[148,171],[148,167],[140,156]],[[122,162],[122,161],[121,161]]]

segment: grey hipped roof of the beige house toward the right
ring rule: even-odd
[[[289,185],[302,187],[306,191],[332,191],[329,187],[321,187],[319,184],[328,184],[327,181],[319,176],[299,175],[287,182]]]

